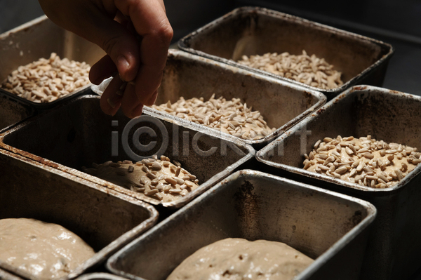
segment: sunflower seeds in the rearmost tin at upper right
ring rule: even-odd
[[[340,79],[341,72],[334,70],[333,65],[328,64],[324,58],[309,56],[305,51],[302,51],[302,55],[266,53],[250,55],[250,58],[243,55],[238,62],[316,88],[333,89],[344,84]]]

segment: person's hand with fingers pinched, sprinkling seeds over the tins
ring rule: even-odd
[[[163,0],[39,0],[39,3],[55,24],[97,44],[107,53],[89,73],[93,84],[100,84],[109,76],[116,78],[101,96],[103,112],[114,115],[121,107],[126,116],[134,118],[142,114],[143,105],[154,104],[173,38]]]

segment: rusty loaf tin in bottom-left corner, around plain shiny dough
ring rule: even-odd
[[[0,170],[0,218],[62,225],[97,252],[62,279],[73,279],[104,263],[158,220],[158,212],[149,204],[4,149],[0,149]],[[1,260],[0,269],[37,280]]]

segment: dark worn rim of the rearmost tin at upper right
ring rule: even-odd
[[[379,60],[377,60],[372,65],[370,65],[369,67],[364,69],[360,74],[354,76],[352,79],[350,79],[349,81],[344,83],[342,86],[339,86],[338,88],[332,88],[332,89],[322,89],[322,88],[316,88],[314,86],[309,86],[309,85],[301,83],[299,81],[295,81],[293,79],[288,79],[288,78],[285,78],[283,76],[273,74],[271,72],[263,71],[263,70],[256,69],[256,68],[253,68],[253,67],[248,67],[246,65],[242,65],[241,63],[235,62],[234,60],[229,60],[227,58],[221,58],[217,55],[210,55],[209,53],[205,53],[203,51],[198,51],[194,48],[191,48],[189,46],[189,43],[187,43],[189,40],[193,39],[195,36],[200,35],[201,32],[206,31],[208,29],[213,29],[215,27],[215,25],[218,25],[220,22],[225,21],[227,18],[234,18],[236,15],[241,15],[241,14],[244,14],[244,13],[258,13],[260,15],[269,15],[269,16],[272,16],[272,17],[282,18],[282,19],[293,21],[293,22],[306,23],[306,24],[312,25],[313,27],[316,27],[317,29],[326,30],[327,32],[330,32],[330,33],[333,33],[333,34],[347,35],[347,36],[352,37],[353,39],[357,39],[359,41],[361,41],[361,40],[362,41],[369,41],[370,43],[376,44],[378,46],[382,46],[382,48],[387,48],[387,49],[389,49],[389,51],[385,55],[382,55],[382,57]],[[361,80],[364,76],[370,74],[370,72],[373,71],[373,69],[382,65],[386,60],[389,60],[392,57],[392,55],[394,54],[393,46],[390,45],[390,44],[387,44],[383,41],[379,41],[379,40],[372,39],[372,38],[367,37],[367,36],[359,35],[359,34],[356,34],[356,33],[353,33],[353,32],[348,32],[348,31],[338,29],[338,28],[335,28],[335,27],[331,27],[329,25],[323,25],[321,23],[314,22],[312,20],[306,20],[305,18],[300,18],[300,17],[295,16],[295,15],[289,15],[287,13],[281,13],[279,11],[270,10],[268,8],[253,7],[253,6],[245,6],[245,7],[236,8],[233,11],[223,15],[222,17],[220,17],[216,20],[213,20],[212,22],[209,22],[207,25],[204,25],[203,27],[200,27],[199,29],[196,29],[194,32],[192,32],[190,34],[187,34],[182,39],[180,39],[178,41],[178,47],[182,51],[187,51],[188,53],[193,53],[193,54],[196,54],[196,55],[203,56],[205,58],[217,60],[217,61],[223,62],[227,65],[232,65],[234,67],[247,69],[248,71],[263,74],[265,76],[271,76],[272,78],[277,79],[277,80],[288,81],[291,84],[296,84],[298,86],[302,86],[304,88],[311,89],[312,91],[319,91],[321,93],[327,94],[328,96],[330,96],[332,94],[336,94],[336,93],[342,93],[342,91],[345,91],[350,86],[354,86],[355,84],[357,84],[359,82],[359,80]]]

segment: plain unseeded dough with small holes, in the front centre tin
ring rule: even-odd
[[[167,280],[293,279],[313,260],[276,241],[228,238],[200,248]]]

